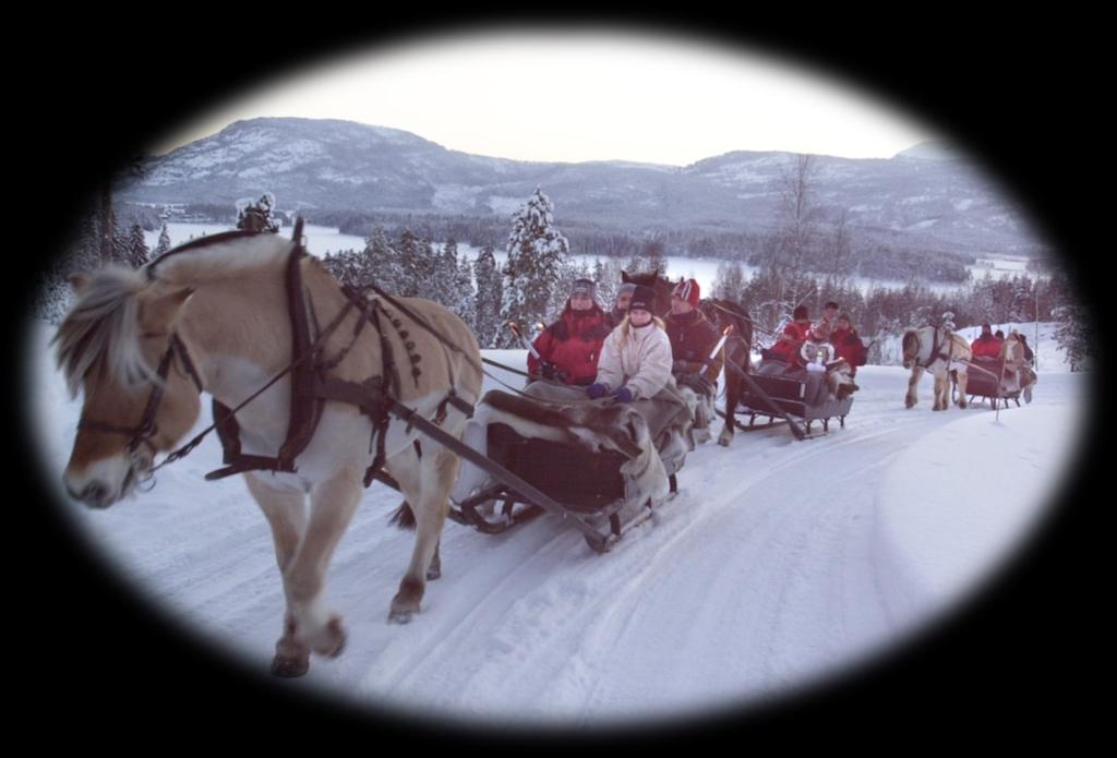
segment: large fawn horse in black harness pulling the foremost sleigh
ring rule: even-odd
[[[288,285],[293,275],[297,288]],[[77,299],[52,342],[71,396],[84,390],[63,474],[73,498],[90,508],[118,502],[151,478],[155,453],[171,450],[193,426],[201,393],[212,395],[217,418],[217,409],[264,387],[225,421],[226,429],[239,426],[235,460],[268,462],[233,471],[244,470],[270,526],[286,596],[271,672],[299,677],[312,651],[342,652],[346,630],[326,605],[325,577],[370,483],[370,459],[382,463],[418,514],[410,564],[389,620],[407,623],[419,612],[426,581],[437,578],[429,572],[459,460],[438,445],[420,450],[418,432],[371,407],[370,397],[378,395],[363,391],[380,387],[379,396],[436,418],[460,439],[480,394],[481,368],[477,342],[457,316],[429,300],[390,298],[389,307],[383,298],[344,290],[300,243],[261,232],[207,237],[141,269],[109,267],[76,275],[71,284]],[[314,349],[302,357],[296,322],[288,318],[299,309],[304,323],[318,327]],[[410,363],[401,359],[408,357]],[[296,424],[293,393],[302,392],[296,377],[308,358],[317,394],[313,405],[307,401],[315,421],[306,425]],[[401,374],[399,363],[410,373]],[[332,397],[327,386],[347,387],[353,397]],[[454,394],[457,401],[447,403]],[[304,439],[292,449],[296,425]],[[276,449],[278,457],[266,458]],[[226,444],[227,462],[229,454]],[[294,455],[286,466],[285,454]]]

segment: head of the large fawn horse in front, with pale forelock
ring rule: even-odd
[[[198,420],[194,364],[174,327],[191,295],[109,268],[71,278],[78,298],[58,327],[58,366],[84,402],[63,473],[69,493],[95,508],[128,495]]]

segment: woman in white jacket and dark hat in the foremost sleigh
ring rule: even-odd
[[[586,388],[592,399],[612,395],[615,402],[650,400],[671,382],[671,340],[663,322],[652,315],[656,292],[640,286],[632,292],[628,316],[601,347],[598,377]]]

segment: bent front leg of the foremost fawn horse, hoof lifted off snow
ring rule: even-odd
[[[361,471],[343,466],[331,479],[317,484],[311,495],[311,519],[283,572],[287,596],[284,636],[276,644],[273,672],[299,675],[289,670],[289,653],[308,651],[336,656],[345,645],[341,615],[325,603],[326,570],[334,549],[349,527],[361,495]]]

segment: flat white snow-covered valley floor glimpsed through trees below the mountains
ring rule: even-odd
[[[202,234],[216,234],[222,231],[229,231],[228,226],[223,224],[206,224],[206,223],[169,223],[168,234],[171,237],[171,244],[182,244],[188,242],[191,238],[198,238]],[[290,236],[290,227],[284,227],[280,230],[280,234]],[[342,234],[336,228],[330,227],[315,227],[308,224],[305,228],[305,233],[307,238],[307,249],[316,255],[324,256],[327,251],[337,252],[338,250],[363,250],[364,249],[364,238],[356,237],[354,234]],[[147,248],[151,250],[155,249],[155,244],[159,242],[159,231],[145,231],[144,238],[147,242]],[[441,242],[438,242],[440,246]],[[465,243],[458,243],[458,252],[461,256],[469,258],[470,260],[477,257],[480,252],[480,248],[475,248]],[[495,258],[497,262],[504,263],[508,258],[508,253],[504,250],[495,251]],[[593,266],[595,256],[588,255],[575,255],[574,258],[580,262],[585,262],[589,266]],[[602,259],[605,260],[605,259]],[[667,276],[671,279],[688,278],[696,279],[698,281],[698,287],[703,292],[713,291],[714,280],[717,278],[717,267],[722,265],[723,261],[705,258],[677,258],[668,257],[667,259]],[[1023,258],[1003,258],[993,259],[986,258],[981,259],[987,266],[970,266],[970,270],[973,272],[975,279],[981,279],[989,271],[994,278],[1011,278],[1012,276],[1022,276],[1027,274],[1025,266],[1027,259]],[[744,266],[742,269],[745,272],[745,278],[750,278],[756,270],[754,266]],[[1035,275],[1032,275],[1033,277]],[[861,288],[861,291],[868,294],[875,287],[886,287],[892,289],[903,288],[905,282],[885,280],[885,279],[871,279],[867,277],[860,277],[855,280],[857,285]],[[947,292],[956,289],[958,285],[945,284],[945,282],[928,282],[928,288],[935,292]]]

